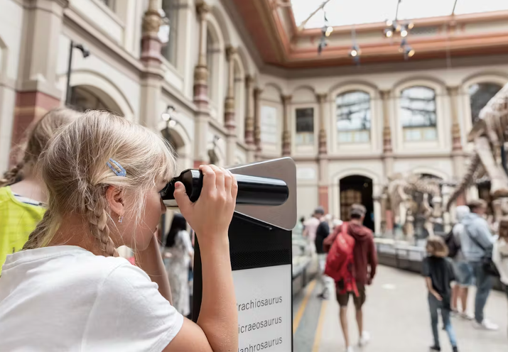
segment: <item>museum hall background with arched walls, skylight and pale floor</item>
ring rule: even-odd
[[[506,0],[0,0],[2,173],[58,106],[141,123],[173,146],[178,173],[294,160],[293,351],[352,351],[335,296],[317,297],[317,210],[331,233],[365,208],[379,262],[372,341],[351,343],[365,352],[428,351],[427,238],[478,199],[493,236],[508,215]],[[460,351],[507,351],[507,294],[493,286],[498,329],[452,314]]]

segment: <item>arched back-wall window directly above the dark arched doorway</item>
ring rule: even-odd
[[[370,95],[360,90],[337,95],[337,141],[367,143],[370,140]]]

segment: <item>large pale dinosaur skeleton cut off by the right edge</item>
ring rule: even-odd
[[[483,175],[490,179],[490,194],[493,199],[504,199],[493,203],[495,213],[508,214],[508,176],[500,161],[501,145],[508,143],[508,84],[490,99],[480,111],[478,121],[475,122],[468,135],[468,142],[475,145],[468,171],[451,194],[446,209],[460,194]],[[505,204],[505,205],[502,205]]]

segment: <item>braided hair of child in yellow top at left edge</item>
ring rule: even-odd
[[[0,187],[12,185],[33,170],[40,153],[58,128],[65,126],[76,119],[81,113],[72,109],[58,108],[48,111],[36,123],[27,130],[26,145],[23,157],[18,163],[4,173],[0,179]],[[21,156],[21,155],[20,155]]]

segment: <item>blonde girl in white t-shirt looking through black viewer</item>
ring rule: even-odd
[[[8,255],[4,265],[2,349],[237,350],[227,229],[238,188],[230,172],[201,166],[195,203],[180,182],[175,189],[202,246],[202,305],[194,324],[168,302],[153,234],[166,211],[159,192],[175,171],[168,145],[122,117],[88,111],[53,137],[40,167],[48,210],[26,251]],[[135,249],[140,268],[117,257],[120,245]]]

